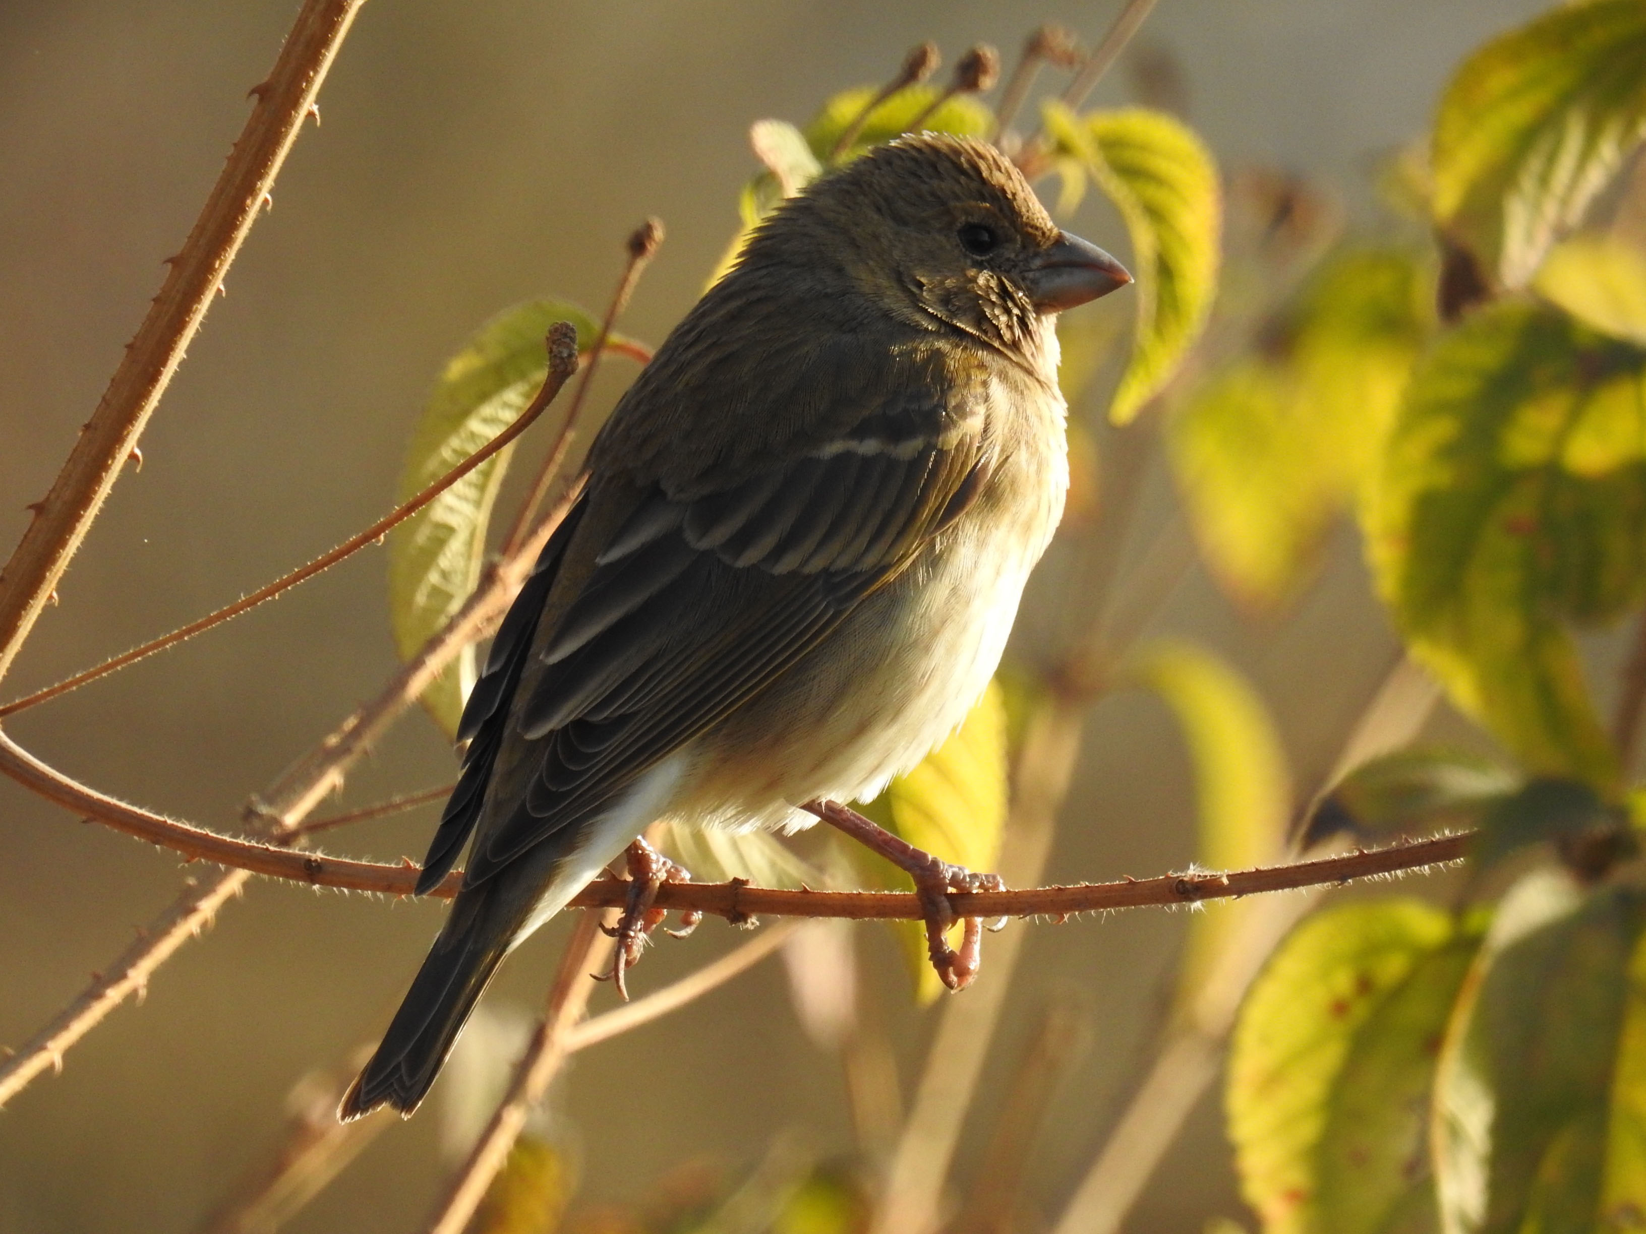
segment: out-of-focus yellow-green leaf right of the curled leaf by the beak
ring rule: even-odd
[[[1399,248],[1335,255],[1261,352],[1174,415],[1167,444],[1195,538],[1234,599],[1272,609],[1307,581],[1394,423],[1430,326],[1430,281]]]

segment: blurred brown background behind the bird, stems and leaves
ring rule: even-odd
[[[0,5],[7,551],[158,290],[160,262],[186,235],[295,8]],[[1164,0],[1095,102],[1142,97],[1179,110],[1226,174],[1304,178],[1374,227],[1378,168],[1425,128],[1450,66],[1539,8]],[[1011,58],[1042,21],[1090,43],[1111,16],[1109,5],[1019,0],[367,5],[321,94],[323,127],[298,141],[272,214],[143,439],[142,469],[127,469],[5,696],[226,604],[382,513],[444,359],[515,301],[602,306],[622,240],[649,214],[668,239],[625,331],[660,341],[736,230],[737,191],[757,169],[752,120],[803,122],[830,94],[882,81],[923,38],[950,63],[979,39]],[[1123,230],[1096,202],[1070,225],[1124,253]],[[606,365],[601,406],[629,372],[622,360]],[[1175,518],[1157,466],[1121,551]],[[1034,656],[1058,615],[1047,605],[1067,594],[1045,581],[1030,594],[1021,655]],[[1299,785],[1335,760],[1396,648],[1346,527],[1284,612],[1241,614],[1188,569],[1149,630],[1202,640],[1249,675]],[[393,663],[382,553],[369,550],[7,727],[105,791],[227,826]],[[1432,721],[1435,731],[1455,724],[1444,712]],[[444,739],[413,714],[351,778],[342,805],[439,783],[453,768]],[[416,856],[431,821],[421,811],[364,824],[332,847]],[[0,1043],[15,1045],[171,900],[179,867],[10,782],[0,783]],[[1192,772],[1169,712],[1139,691],[1104,698],[1049,879],[1144,877],[1193,854]],[[293,1084],[380,1028],[439,913],[253,882],[160,971],[142,1005],[117,1010],[61,1076],[0,1112],[0,1232],[191,1229],[270,1152]],[[1151,1058],[1185,921],[1132,912],[1029,928],[958,1180],[984,1153],[991,1111],[1040,1009],[1058,999],[1088,1025],[1086,1048],[1050,1101],[1027,1185],[1035,1204],[1058,1211]],[[563,933],[556,923],[517,953],[495,1005],[538,1005]],[[907,1091],[935,1012],[912,1004],[890,936],[859,935],[874,1018]],[[655,989],[736,941],[708,921],[690,941],[653,949],[632,986]],[[611,999],[601,990],[597,1009]],[[578,1056],[555,1111],[581,1158],[579,1203],[652,1195],[690,1162],[737,1176],[782,1134],[820,1157],[853,1139],[839,1065],[807,1038],[770,963]],[[435,1109],[390,1127],[290,1229],[415,1227],[448,1168],[439,1129]],[[1228,1162],[1208,1097],[1128,1229],[1243,1219]]]

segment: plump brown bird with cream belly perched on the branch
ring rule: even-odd
[[[655,819],[807,826],[943,742],[1062,515],[1055,318],[1129,281],[940,133],[752,232],[499,625],[418,892],[469,846],[463,885],[339,1117],[410,1117],[504,956]]]

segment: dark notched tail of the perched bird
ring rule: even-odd
[[[384,1040],[342,1097],[342,1122],[388,1104],[412,1114],[520,931],[517,897],[497,884],[459,893]],[[494,920],[495,918],[495,920]]]

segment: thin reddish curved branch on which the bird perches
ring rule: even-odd
[[[408,691],[410,698],[416,698],[420,693],[421,689]],[[364,742],[354,749],[364,749]],[[265,874],[273,879],[286,879],[288,882],[301,882],[311,887],[332,887],[346,892],[410,895],[416,885],[418,869],[410,861],[403,861],[400,865],[384,865],[379,862],[349,861],[347,857],[328,857],[318,852],[293,852],[275,844],[224,836],[206,828],[155,814],[125,801],[117,801],[48,767],[3,732],[0,732],[0,772],[10,775],[25,788],[31,788],[49,801],[56,801],[84,818],[105,823],[115,831],[146,839],[151,844],[174,849],[193,861],[211,861],[219,865],[250,870],[252,874]],[[309,796],[314,796],[313,786],[305,791],[305,798]],[[1473,834],[1470,831],[1457,836],[1437,836],[1386,849],[1361,849],[1338,857],[1322,857],[1318,861],[1287,865],[1266,865],[1234,874],[1162,874],[1155,879],[1124,879],[1121,882],[1078,884],[1072,887],[956,892],[950,895],[950,902],[955,907],[956,916],[1067,916],[1070,913],[1091,913],[1111,908],[1198,903],[1202,900],[1221,900],[1254,895],[1258,892],[1282,892],[1297,887],[1350,882],[1353,879],[1373,879],[1401,870],[1416,870],[1424,865],[1462,861],[1468,856]],[[430,893],[439,898],[451,898],[461,885],[463,872],[453,870]],[[627,887],[629,882],[625,879],[602,879],[573,897],[571,903],[578,908],[617,908],[624,903]],[[655,907],[713,913],[732,921],[742,921],[756,915],[844,916],[856,921],[917,921],[923,916],[920,898],[914,892],[813,892],[810,888],[792,892],[749,887],[737,880],[721,884],[663,884],[657,892]]]

